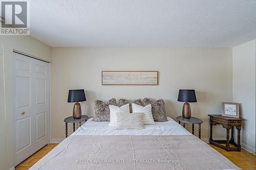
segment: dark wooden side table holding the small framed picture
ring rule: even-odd
[[[240,145],[240,131],[242,126],[242,118],[233,118],[222,116],[220,114],[208,114],[210,116],[210,138],[209,143],[216,145],[226,151],[241,151]],[[227,130],[226,140],[212,140],[212,126],[221,124],[223,128]],[[238,143],[234,142],[234,127],[238,130]],[[229,131],[231,129],[231,138],[229,140]],[[221,145],[221,143],[226,143],[226,145]],[[233,144],[235,147],[230,147],[229,143]]]

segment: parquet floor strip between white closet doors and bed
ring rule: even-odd
[[[15,170],[25,170],[29,169],[33,164],[35,164],[38,160],[40,160],[42,157],[44,157],[48,152],[50,152],[54,147],[56,147],[57,144],[48,144],[44,148],[40,149],[30,157],[28,157],[26,160],[24,160],[22,163],[18,164],[15,167]]]

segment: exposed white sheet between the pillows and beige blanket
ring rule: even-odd
[[[174,119],[167,117],[167,122],[156,122],[155,125],[145,125],[145,129],[116,130],[108,126],[110,122],[94,122],[90,118],[72,135],[192,135]]]

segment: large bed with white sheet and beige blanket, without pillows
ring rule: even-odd
[[[240,169],[168,117],[143,130],[92,118],[30,169]]]

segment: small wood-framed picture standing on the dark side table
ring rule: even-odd
[[[239,118],[239,103],[222,102],[222,116]]]

